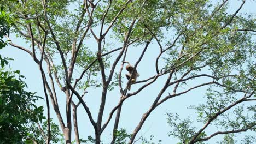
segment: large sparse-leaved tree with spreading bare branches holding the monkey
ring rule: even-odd
[[[101,135],[114,119],[114,113],[111,143],[120,140],[117,136],[121,136],[122,142],[128,137],[127,142],[133,143],[156,107],[201,87],[207,88],[207,102],[191,108],[197,110],[197,121],[203,127],[191,128],[192,122],[188,119],[176,123],[174,120],[179,117],[168,114],[168,123],[174,128],[170,136],[178,137],[181,143],[196,143],[218,135],[255,131],[256,107],[250,101],[255,101],[253,34],[256,25],[252,15],[240,14],[245,3],[242,1],[230,14],[228,1],[2,2],[14,23],[12,33],[31,45],[23,47],[11,38],[8,38],[9,44],[28,53],[42,74],[48,105],[48,131],[49,95],[66,143],[71,143],[72,128],[75,141],[80,143],[77,108],[81,104],[94,128],[95,143],[101,143]],[[89,44],[88,41],[94,42]],[[141,74],[143,78],[148,77],[132,85],[138,88],[127,91],[131,80],[124,82],[123,62],[133,61],[134,68],[139,69],[149,47],[154,47],[158,53],[147,67],[155,74]],[[132,49],[136,49],[136,53],[142,49],[138,58],[126,57]],[[113,53],[116,55],[112,56]],[[161,83],[159,79],[165,82]],[[159,92],[157,95],[149,94],[155,97],[152,105],[131,134],[120,134],[118,125],[124,101],[147,91],[151,85],[162,86],[155,89]],[[57,87],[63,93],[56,91]],[[89,109],[90,104],[83,99],[86,93],[90,95],[88,88],[101,91],[101,95],[95,96],[100,97],[100,101],[95,101],[100,103],[96,119],[96,114]],[[120,100],[104,120],[108,93],[113,89],[119,89]],[[66,95],[66,122],[59,109],[58,99],[62,94]],[[235,118],[229,116],[231,111]],[[206,129],[213,123],[224,131],[207,134]],[[123,130],[123,133],[126,132]]]

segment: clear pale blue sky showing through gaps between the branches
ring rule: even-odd
[[[241,1],[232,1],[231,2],[231,8],[229,9],[229,13],[233,13],[240,5]],[[242,8],[241,12],[247,12],[247,13],[253,13],[256,14],[256,3],[255,1],[247,1],[245,4],[245,7]],[[22,46],[28,47],[29,45],[25,44],[24,41],[21,39],[14,39],[14,43],[20,44]],[[94,46],[94,43],[90,43],[89,45]],[[121,46],[121,44],[120,44]],[[138,50],[139,49],[139,50]],[[139,63],[137,70],[141,74],[139,77],[139,80],[144,80],[148,76],[155,75],[154,66],[151,68],[149,67],[149,63],[154,63],[156,55],[156,50],[158,49],[158,45],[155,43],[151,45],[146,52],[146,55],[144,56],[141,63]],[[130,51],[130,50],[129,50]],[[134,51],[134,53],[131,55],[127,55],[126,60],[130,61],[132,64],[134,64],[140,53],[138,51],[142,51],[142,47],[132,47],[131,51]],[[10,62],[10,67],[13,70],[20,70],[22,75],[25,75],[26,77],[26,83],[28,85],[28,90],[32,92],[38,92],[38,95],[45,97],[43,93],[42,88],[42,80],[41,76],[37,67],[37,64],[32,61],[31,56],[29,56],[24,51],[15,49],[13,47],[7,47],[3,51],[1,51],[1,54],[3,54],[5,57],[14,58],[14,61]],[[113,55],[113,57],[117,56],[117,54]],[[120,64],[119,64],[120,65]],[[118,69],[118,68],[117,68]],[[124,74],[124,71],[123,71]],[[135,129],[136,125],[141,119],[141,116],[143,113],[145,113],[149,106],[153,103],[156,95],[159,93],[160,88],[162,85],[164,85],[166,77],[162,77],[158,82],[155,83],[155,85],[149,86],[146,90],[143,90],[140,94],[133,96],[129,99],[127,99],[123,104],[123,111],[121,112],[121,118],[119,123],[119,128],[123,127],[126,128],[128,132],[131,132]],[[206,80],[201,80],[206,81]],[[193,85],[194,83],[191,83]],[[134,91],[139,86],[132,85],[132,91]],[[171,90],[170,90],[171,91]],[[167,91],[168,92],[168,91]],[[171,130],[170,127],[167,124],[167,116],[165,115],[167,112],[171,113],[179,113],[179,115],[182,118],[187,118],[190,116],[191,119],[196,118],[196,114],[193,110],[188,110],[187,107],[189,105],[197,105],[199,102],[202,102],[203,99],[203,93],[205,92],[205,88],[199,88],[195,91],[192,91],[188,94],[183,95],[182,97],[177,97],[170,99],[166,101],[166,103],[159,106],[156,110],[153,111],[153,113],[149,116],[147,121],[144,123],[142,130],[139,131],[139,134],[137,137],[143,135],[147,138],[149,138],[150,135],[155,136],[155,141],[162,140],[162,143],[175,143],[176,140],[171,139],[167,135],[167,131]],[[61,113],[63,118],[65,118],[65,95],[62,94],[60,91],[57,91],[58,98],[59,98],[59,105],[61,109]],[[167,93],[165,93],[163,96],[165,96]],[[114,91],[108,92],[107,100],[106,100],[106,109],[104,110],[104,117],[103,122],[106,121],[110,110],[112,107],[118,104],[119,100],[119,89],[115,88]],[[85,96],[86,103],[90,107],[90,110],[92,112],[92,116],[94,119],[97,117],[98,112],[98,106],[100,105],[100,99],[101,99],[101,91],[100,89],[88,89],[88,94]],[[38,102],[38,105],[44,105],[46,110],[46,105],[44,101],[40,100]],[[114,115],[115,116],[115,115]],[[55,113],[51,107],[51,118],[54,118],[54,121],[57,122],[57,118],[55,116]],[[109,142],[112,138],[112,128],[113,128],[113,122],[114,118],[102,134],[102,140]],[[88,135],[94,136],[94,129],[92,128],[89,119],[82,107],[82,105],[78,109],[78,125],[79,125],[79,133],[80,137],[86,138]],[[202,124],[195,123],[194,126],[198,126],[199,128],[202,127]],[[208,130],[213,131],[214,128]],[[74,133],[72,133],[72,136],[74,136]],[[238,138],[239,139],[239,138]],[[217,141],[216,138],[210,140],[207,143],[215,143]]]

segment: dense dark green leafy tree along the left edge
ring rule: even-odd
[[[9,34],[8,16],[0,11],[0,49],[7,43],[4,35]],[[6,68],[8,61],[13,60],[0,55],[0,143],[24,143],[32,140],[27,125],[38,123],[44,119],[43,106],[37,107],[34,103],[40,97],[35,93],[27,92],[27,85],[19,70],[10,71]]]

